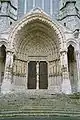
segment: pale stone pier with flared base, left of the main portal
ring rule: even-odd
[[[1,92],[3,94],[11,92],[12,89],[12,67],[13,67],[13,52],[6,52],[6,63],[5,63],[5,73],[4,79],[1,86]]]

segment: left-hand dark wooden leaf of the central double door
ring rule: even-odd
[[[36,62],[30,61],[28,64],[28,89],[36,89]]]

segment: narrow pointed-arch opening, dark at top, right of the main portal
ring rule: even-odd
[[[68,47],[68,70],[72,92],[77,92],[77,62],[75,50],[72,45],[69,45]]]

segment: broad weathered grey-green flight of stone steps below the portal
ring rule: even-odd
[[[0,95],[0,118],[52,115],[80,117],[80,96],[40,96],[28,95],[26,92]]]

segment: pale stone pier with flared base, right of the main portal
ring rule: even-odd
[[[67,51],[61,51],[61,73],[62,73],[62,93],[70,94],[71,93],[71,84],[69,80],[68,73],[68,60],[67,60]]]

